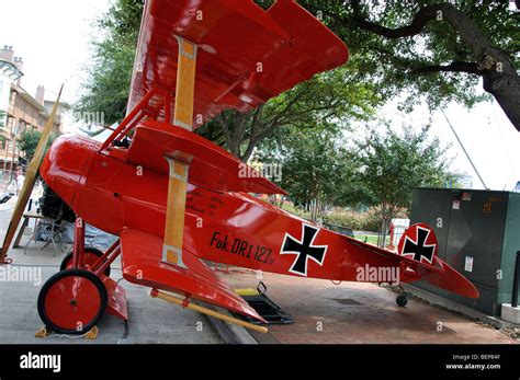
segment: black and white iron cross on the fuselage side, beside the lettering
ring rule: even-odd
[[[319,229],[308,224],[302,224],[302,240],[296,240],[289,233],[285,233],[283,240],[281,255],[295,254],[296,260],[289,272],[297,275],[307,276],[307,262],[312,258],[319,265],[324,264],[325,254],[327,253],[328,245],[313,245],[313,241],[316,238]]]

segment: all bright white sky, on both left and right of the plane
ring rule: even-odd
[[[65,83],[64,101],[77,100],[89,65],[89,42],[98,33],[92,22],[110,3],[108,0],[2,0],[0,46],[13,46],[15,55],[24,59],[22,87],[30,94],[34,96],[36,87],[43,84],[46,100],[53,100]],[[486,186],[512,189],[520,181],[520,133],[496,102],[479,104],[471,111],[450,104],[444,111]],[[396,104],[386,105],[380,116],[397,126],[418,127],[430,118],[426,107],[404,114],[397,111]],[[66,131],[75,130],[71,117],[65,118],[65,124]],[[451,169],[471,174],[474,188],[484,188],[440,112],[432,115],[431,133],[443,146],[452,145],[448,154],[454,158]]]

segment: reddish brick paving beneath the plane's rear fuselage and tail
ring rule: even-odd
[[[256,288],[255,274],[226,274],[235,288]],[[294,316],[291,325],[271,325],[252,335],[261,343],[519,343],[464,316],[409,300],[373,284],[302,279],[263,274],[268,296]]]

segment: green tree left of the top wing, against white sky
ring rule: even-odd
[[[144,0],[116,0],[95,22],[103,37],[92,42],[93,59],[76,114],[103,112],[109,125],[124,118],[143,7]]]

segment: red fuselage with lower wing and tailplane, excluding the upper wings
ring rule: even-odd
[[[120,158],[118,148],[114,157],[99,152],[98,148],[98,142],[87,138],[63,136],[50,148],[41,173],[87,222],[121,235],[125,278],[192,293],[207,302],[245,312],[229,289],[219,292],[218,283],[199,261],[190,262],[192,270],[189,273],[161,263],[168,175],[146,166],[138,170],[136,164]],[[366,266],[399,267],[400,281],[425,276],[464,296],[476,295],[470,281],[439,258],[437,263],[442,266],[419,264],[317,227],[312,245],[327,247],[323,262],[307,258],[305,274],[291,272],[298,255],[282,254],[282,245],[287,235],[302,241],[304,226],[313,224],[252,195],[217,193],[189,184],[183,249],[190,260],[199,257],[264,272],[335,280],[360,280],[359,268]],[[142,278],[138,270],[144,274]],[[222,297],[226,301],[222,301]]]

